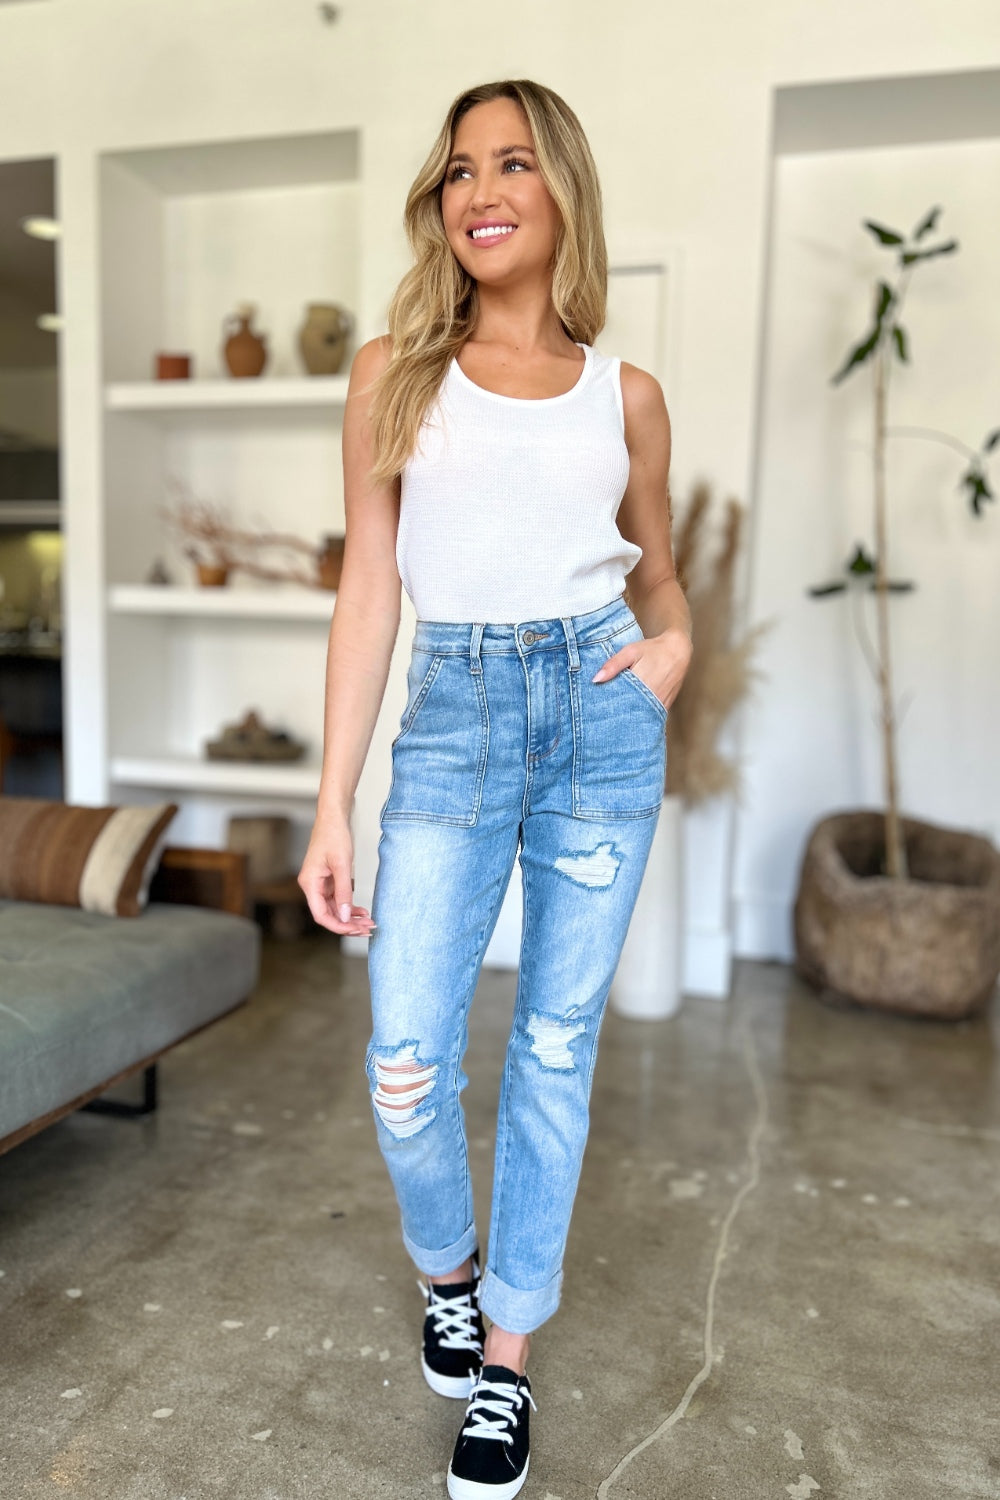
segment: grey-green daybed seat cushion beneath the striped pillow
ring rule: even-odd
[[[0,902],[0,1138],[232,1010],[258,962],[225,912]]]

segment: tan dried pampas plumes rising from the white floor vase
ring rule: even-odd
[[[691,501],[673,532],[678,580],[691,610],[694,656],[667,718],[667,792],[688,806],[720,792],[739,792],[739,766],[718,752],[718,736],[750,680],[763,676],[750,664],[760,636],[774,621],[754,626],[732,644],[733,576],[744,510],[726,506],[721,542],[709,554],[706,537],[711,490],[694,486]]]

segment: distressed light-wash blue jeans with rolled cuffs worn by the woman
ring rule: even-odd
[[[478,1245],[462,1058],[520,854],[517,1005],[481,1286],[483,1311],[511,1334],[531,1334],[559,1302],[598,1029],[663,798],[667,710],[630,669],[591,681],[642,639],[621,597],[565,620],[418,621],[393,741],[366,1068],[403,1244],[426,1275]]]

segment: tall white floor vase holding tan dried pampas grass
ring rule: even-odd
[[[706,537],[711,490],[694,486],[673,534],[676,574],[691,610],[691,657],[667,714],[667,774],[646,873],[610,992],[618,1014],[637,1020],[673,1016],[684,974],[684,813],[739,786],[739,766],[718,748],[736,704],[760,674],[750,666],[771,621],[733,642],[733,582],[744,510],[730,500],[721,540]]]

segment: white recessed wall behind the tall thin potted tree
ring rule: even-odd
[[[831,152],[778,162],[768,296],[751,614],[774,618],[766,680],[744,716],[738,951],[789,957],[790,908],[810,826],[883,806],[877,694],[855,627],[876,636],[874,598],[808,598],[862,542],[874,555],[873,368],[831,376],[871,326],[895,258],[862,228],[909,234],[942,206],[925,244],[960,250],[916,267],[894,363],[892,426],[939,429],[979,448],[1000,428],[1000,141]],[[889,572],[916,591],[891,603],[900,795],[912,816],[1000,840],[1000,504],[976,519],[958,490],[963,454],[889,442]],[[1000,492],[1000,453],[993,462]]]

